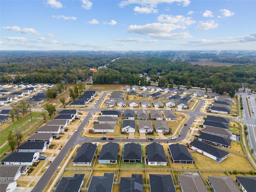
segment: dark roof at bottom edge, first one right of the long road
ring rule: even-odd
[[[74,174],[73,177],[62,177],[54,192],[79,192],[85,174]]]

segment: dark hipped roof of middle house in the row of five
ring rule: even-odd
[[[140,144],[136,144],[136,143],[125,144],[123,159],[142,159]]]

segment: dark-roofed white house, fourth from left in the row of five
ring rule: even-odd
[[[146,146],[148,165],[166,166],[167,159],[161,144],[153,142]]]

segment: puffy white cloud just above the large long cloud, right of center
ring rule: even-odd
[[[157,17],[158,21],[160,22],[166,22],[166,23],[175,23],[175,24],[181,24],[181,25],[191,25],[194,24],[195,21],[191,20],[191,17],[184,17],[183,15],[159,15]]]

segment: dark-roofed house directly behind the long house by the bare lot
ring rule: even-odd
[[[216,136],[216,135],[212,135],[212,134],[208,134],[208,133],[203,133],[203,132],[199,136],[198,140],[205,142],[207,144],[210,144],[210,145],[220,146],[220,147],[224,147],[227,149],[230,148],[231,141],[232,141],[232,140],[224,138],[224,137],[220,137],[220,136]]]

